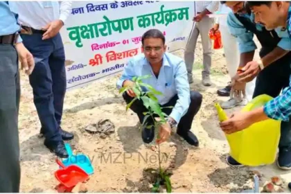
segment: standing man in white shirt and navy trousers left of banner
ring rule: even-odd
[[[67,89],[65,55],[60,29],[71,14],[71,1],[13,1],[19,10],[21,38],[35,59],[30,75],[34,103],[44,134],[44,145],[58,157],[68,157],[64,140],[73,134],[62,130]]]

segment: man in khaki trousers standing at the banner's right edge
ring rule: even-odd
[[[195,26],[192,30],[191,37],[186,45],[184,60],[188,71],[188,82],[193,82],[193,63],[195,60],[195,48],[198,35],[201,35],[203,48],[203,71],[202,84],[211,86],[210,70],[211,70],[211,39],[209,38],[209,30],[212,27],[213,19],[207,15],[218,9],[219,1],[196,1],[196,16],[193,17]]]

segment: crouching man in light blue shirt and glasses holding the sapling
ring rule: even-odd
[[[191,125],[195,114],[200,109],[202,95],[197,91],[190,91],[187,70],[184,61],[177,56],[166,53],[165,37],[161,31],[151,29],[145,32],[141,39],[143,54],[137,55],[127,62],[123,75],[117,82],[117,88],[128,87],[134,84],[135,76],[151,75],[143,80],[163,95],[157,95],[159,104],[168,115],[167,123],[159,128],[160,139],[157,143],[167,141],[173,127],[177,126],[177,134],[191,145],[198,146],[199,141],[191,132]],[[123,93],[125,102],[130,103],[135,94],[131,90]],[[172,107],[172,108],[171,108]],[[143,123],[144,114],[148,112],[141,100],[135,100],[130,106],[133,112]],[[147,119],[146,125],[152,125]],[[143,127],[141,137],[143,142],[150,143],[155,137],[155,127]]]

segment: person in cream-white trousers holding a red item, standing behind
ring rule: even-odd
[[[231,8],[227,7],[225,4],[219,3],[218,11],[224,14],[221,17],[215,19],[215,24],[211,30],[214,32],[220,30],[222,37],[222,45],[224,49],[224,55],[227,60],[227,70],[229,71],[230,80],[233,76],[236,76],[236,71],[238,69],[238,64],[240,62],[240,53],[238,51],[238,42],[236,37],[231,35],[229,27],[227,26],[227,15],[232,12]],[[229,85],[222,89],[218,89],[218,96],[230,96],[229,100],[221,104],[223,109],[229,109],[239,105],[246,105],[249,100],[252,100],[254,94],[254,87],[256,85],[256,78],[251,82],[248,82],[245,87],[246,98],[236,98],[236,96],[231,96],[231,82]]]

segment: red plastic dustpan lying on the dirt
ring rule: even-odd
[[[55,161],[62,167],[62,169],[55,171],[55,178],[64,186],[70,188],[76,186],[78,182],[85,182],[89,179],[89,175],[82,168],[76,165],[65,167],[59,159],[55,159]]]

